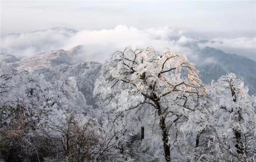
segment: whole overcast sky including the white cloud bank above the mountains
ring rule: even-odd
[[[52,27],[79,32],[31,33]],[[1,1],[0,52],[30,56],[77,45],[87,47],[86,59],[97,54],[95,60],[127,45],[187,56],[197,45],[256,61],[256,1]]]

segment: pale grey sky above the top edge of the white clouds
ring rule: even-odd
[[[1,1],[1,35],[57,26],[99,30],[117,25],[169,26],[206,38],[255,37],[256,1]]]

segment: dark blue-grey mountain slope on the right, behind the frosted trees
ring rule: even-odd
[[[247,57],[225,53],[220,49],[204,47],[199,55],[202,60],[212,57],[215,61],[211,64],[198,66],[202,80],[206,83],[210,79],[217,80],[220,76],[227,73],[235,73],[238,78],[244,80],[249,88],[249,94],[256,94],[256,62]]]

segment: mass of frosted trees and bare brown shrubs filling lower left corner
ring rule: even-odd
[[[92,117],[74,77],[43,76],[0,64],[0,146],[5,161],[106,161],[118,140]]]

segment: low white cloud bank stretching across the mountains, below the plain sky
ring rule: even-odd
[[[256,61],[256,37],[200,40],[169,27],[138,29],[118,25],[114,29],[82,31],[57,27],[1,37],[1,53],[16,56],[30,56],[55,49],[68,50],[77,45],[83,45],[84,49],[77,59],[85,61],[104,62],[113,51],[123,50],[128,45],[133,48],[153,46],[159,51],[171,49],[195,63],[200,59],[196,50],[207,46]]]

